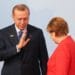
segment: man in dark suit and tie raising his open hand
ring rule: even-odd
[[[12,10],[14,24],[0,31],[2,75],[46,75],[45,39],[41,29],[28,24],[29,15],[26,5],[15,5]]]

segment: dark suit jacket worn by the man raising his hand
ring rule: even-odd
[[[14,24],[0,31],[0,60],[4,60],[2,75],[42,75],[47,70],[47,49],[40,29],[28,25],[30,42],[17,53],[17,33]],[[40,67],[40,68],[39,68]]]

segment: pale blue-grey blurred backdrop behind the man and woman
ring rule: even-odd
[[[0,29],[13,23],[12,7],[18,3],[29,6],[29,23],[43,30],[49,56],[56,47],[46,30],[52,17],[63,17],[69,24],[70,34],[75,38],[75,0],[0,0]],[[0,62],[0,73],[2,66],[3,61]]]

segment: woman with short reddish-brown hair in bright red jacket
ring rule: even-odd
[[[54,17],[47,30],[58,44],[48,60],[47,75],[75,75],[75,41],[68,35],[67,22],[61,17]]]

